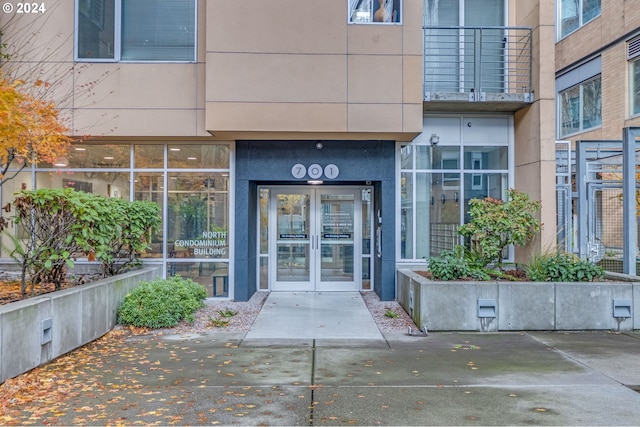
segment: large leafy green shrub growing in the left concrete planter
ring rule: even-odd
[[[13,237],[10,256],[22,266],[21,290],[65,281],[78,256],[95,256],[105,276],[138,264],[152,229],[160,225],[155,203],[128,202],[72,188],[22,190],[13,202],[15,223],[24,238]]]

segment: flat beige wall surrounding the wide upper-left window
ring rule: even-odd
[[[74,63],[74,2],[46,6],[42,14],[0,14],[0,28],[15,75],[51,83],[40,95],[56,102],[73,134],[210,137],[204,126],[204,31],[198,63]],[[200,28],[204,10],[200,0]]]

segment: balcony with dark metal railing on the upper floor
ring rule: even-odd
[[[532,29],[424,27],[425,111],[509,111],[534,101]]]

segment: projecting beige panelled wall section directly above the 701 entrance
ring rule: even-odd
[[[345,2],[210,0],[206,45],[216,137],[411,140],[422,130],[420,0],[403,2],[403,25],[349,25]]]

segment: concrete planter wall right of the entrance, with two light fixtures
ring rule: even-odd
[[[430,331],[638,329],[640,283],[454,282],[397,271],[397,299]]]

